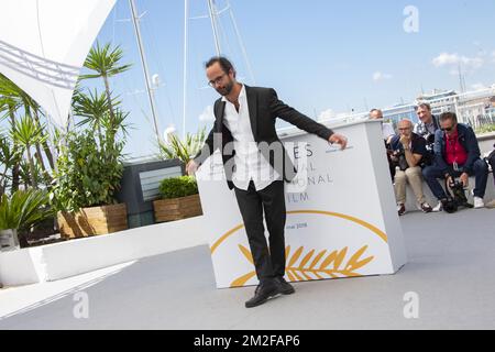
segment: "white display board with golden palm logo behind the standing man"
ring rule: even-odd
[[[285,187],[290,282],[393,274],[406,263],[380,122],[333,130],[348,136],[345,151],[307,133],[283,140],[298,167],[296,179]],[[219,152],[197,178],[217,286],[257,284]]]

